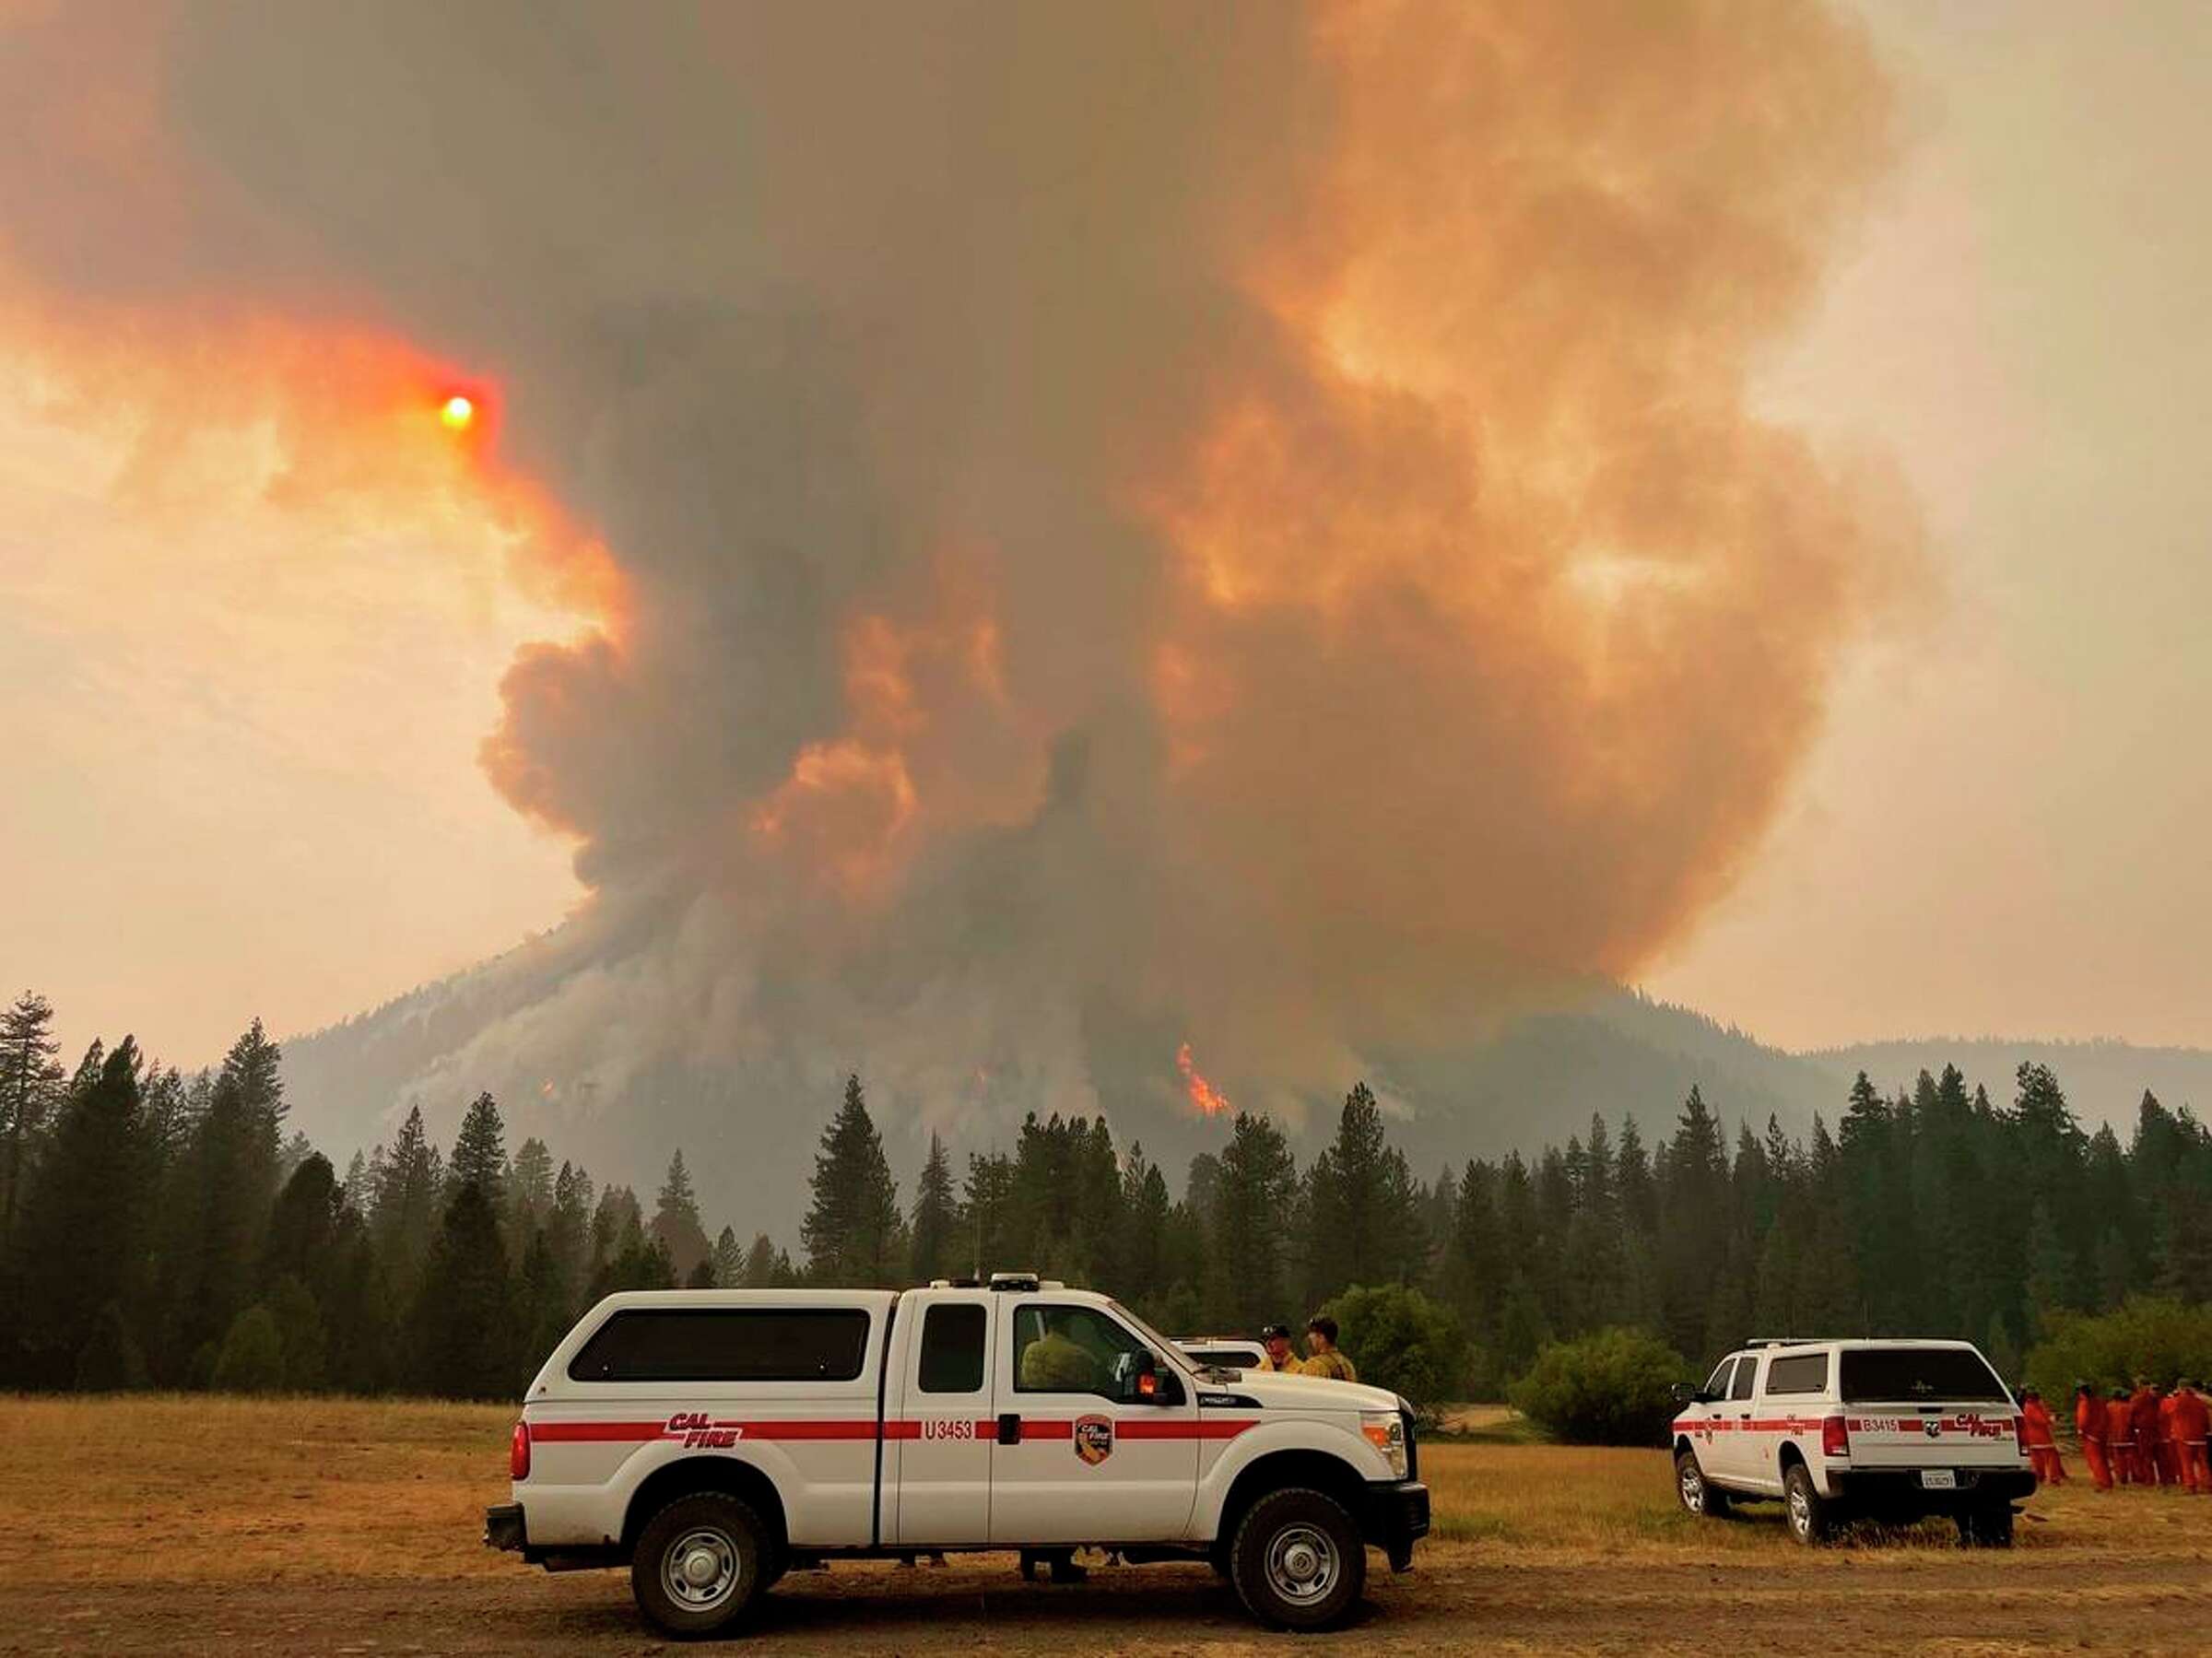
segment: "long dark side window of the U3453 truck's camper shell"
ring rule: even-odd
[[[568,1360],[571,1382],[852,1382],[858,1307],[626,1307]]]

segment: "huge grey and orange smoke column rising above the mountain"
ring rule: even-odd
[[[9,29],[20,292],[467,363],[613,559],[484,745],[593,898],[425,1085],[1296,1116],[1679,937],[1913,564],[1747,407],[1887,161],[1818,4]]]

